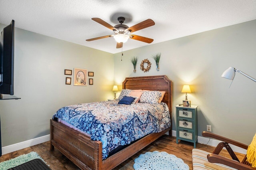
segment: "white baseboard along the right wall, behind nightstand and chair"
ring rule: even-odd
[[[176,130],[172,130],[172,136],[176,137]],[[210,140],[209,140],[209,138],[198,136],[197,142],[200,143],[200,144],[207,144],[209,146],[216,147],[221,141],[216,140],[216,139],[212,139],[212,138],[210,138]],[[246,152],[247,152],[246,149],[240,148],[238,146],[234,146],[232,144],[230,144],[230,147],[232,148],[232,150],[234,152],[238,152],[238,153],[241,153],[241,154],[246,154]]]

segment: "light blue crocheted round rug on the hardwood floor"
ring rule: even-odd
[[[189,170],[182,159],[167,152],[146,152],[134,160],[135,170]]]

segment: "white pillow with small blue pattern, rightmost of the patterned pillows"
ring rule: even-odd
[[[158,104],[162,93],[160,91],[143,91],[140,96],[141,103]]]

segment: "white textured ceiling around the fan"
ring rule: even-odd
[[[86,39],[113,34],[91,20],[133,26],[148,18],[155,25],[134,32],[159,43],[216,28],[256,19],[256,0],[0,0],[0,23],[24,30],[118,53],[114,38],[86,42]],[[150,45],[129,39],[123,51]]]

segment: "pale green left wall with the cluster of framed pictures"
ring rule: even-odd
[[[5,25],[0,24],[0,30]],[[2,146],[50,134],[52,115],[66,105],[113,97],[113,54],[74,43],[15,30],[14,95],[0,101]],[[64,69],[94,72],[93,85],[73,86]],[[65,85],[72,77],[72,85]]]

